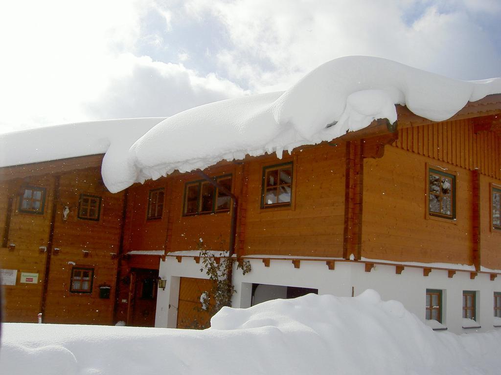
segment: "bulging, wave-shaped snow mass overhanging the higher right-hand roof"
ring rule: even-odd
[[[493,93],[501,93],[501,78],[461,81],[383,58],[342,57],[285,92],[223,100],[169,117],[131,147],[130,157],[138,181],[245,154],[280,157],[284,149],[332,140],[377,118],[394,122],[395,104],[441,121]]]

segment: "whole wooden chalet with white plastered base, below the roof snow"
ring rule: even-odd
[[[235,266],[233,307],[373,288],[435,329],[493,329],[501,94],[443,122],[396,110],[393,124],[375,120],[281,159],[247,155],[117,193],[101,178],[103,154],[4,166],[6,321],[42,312],[44,322],[189,326],[206,318],[201,238],[252,265],[245,275]]]

